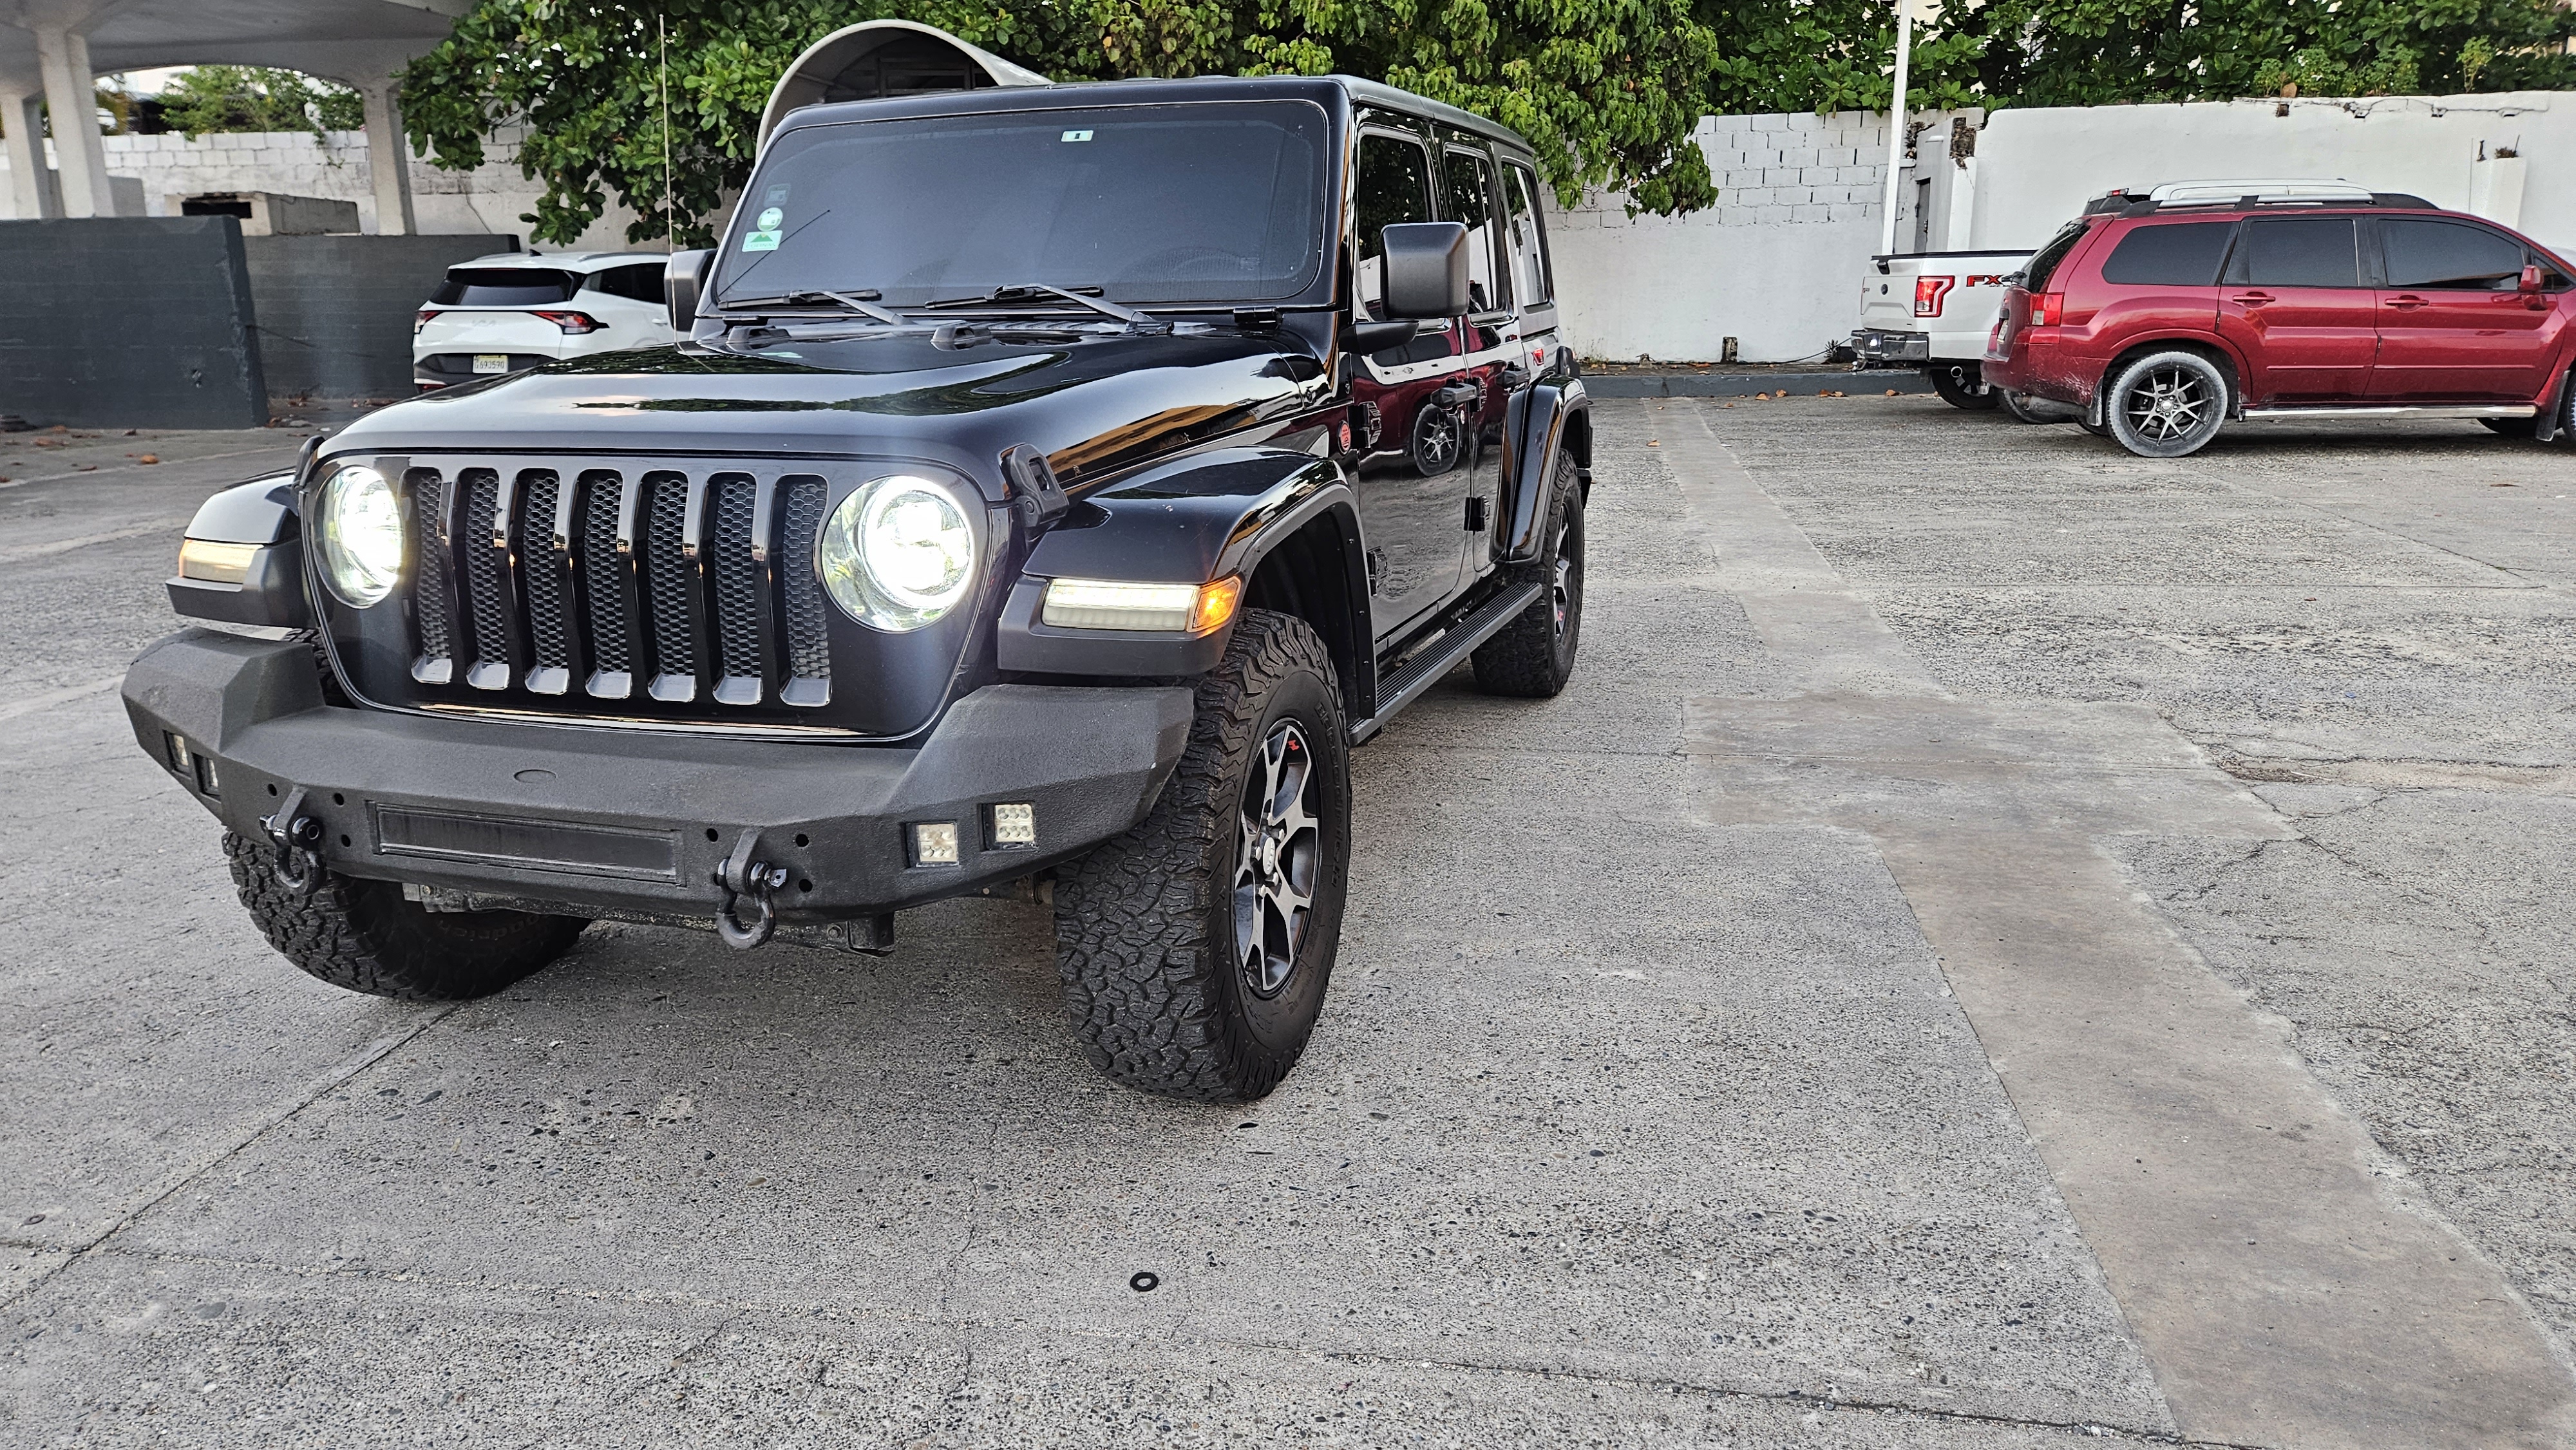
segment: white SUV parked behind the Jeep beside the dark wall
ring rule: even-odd
[[[412,327],[422,391],[556,358],[677,343],[662,252],[500,252],[448,268]]]

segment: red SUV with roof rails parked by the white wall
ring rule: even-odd
[[[2349,183],[2115,191],[2004,294],[1986,381],[2179,458],[2231,417],[2576,433],[2576,283],[2527,237]]]

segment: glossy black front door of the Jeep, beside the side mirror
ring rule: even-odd
[[[1352,196],[1355,304],[1386,319],[1381,232],[1435,221],[1432,152],[1419,134],[1360,131]],[[1422,621],[1458,587],[1476,391],[1458,322],[1425,322],[1404,348],[1352,361],[1360,518],[1368,528],[1368,613],[1378,641]]]

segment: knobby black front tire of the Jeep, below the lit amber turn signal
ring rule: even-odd
[[[1236,935],[1236,886],[1260,860],[1247,793],[1278,739],[1301,742],[1314,783],[1298,796],[1316,822],[1311,907],[1296,948],[1252,968]],[[1324,1010],[1347,878],[1350,726],[1332,654],[1306,621],[1244,610],[1198,683],[1190,744],[1154,809],[1059,868],[1056,974],[1092,1066],[1185,1102],[1265,1097]],[[1257,971],[1273,968],[1285,976],[1265,989]]]

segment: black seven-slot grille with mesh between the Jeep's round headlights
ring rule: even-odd
[[[459,458],[404,484],[420,703],[786,724],[832,701],[822,476]]]

